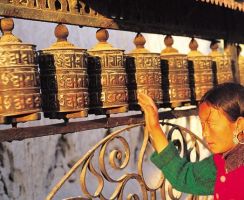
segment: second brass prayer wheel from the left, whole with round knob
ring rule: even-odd
[[[39,51],[42,109],[45,117],[69,119],[88,114],[86,50],[67,41],[63,24],[55,28],[57,42]]]

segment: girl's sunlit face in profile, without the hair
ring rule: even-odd
[[[204,102],[199,106],[199,117],[203,137],[213,153],[224,153],[235,146],[233,143],[235,123],[227,118],[223,110]]]

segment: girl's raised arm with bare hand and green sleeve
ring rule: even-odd
[[[156,149],[151,156],[152,162],[177,190],[197,195],[213,194],[216,168],[212,156],[195,163],[181,158],[160,127],[158,109],[153,100],[139,93],[138,101],[145,114],[152,145]]]

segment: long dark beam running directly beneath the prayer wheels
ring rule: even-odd
[[[187,110],[171,110],[166,112],[160,112],[160,119],[173,119],[179,117],[188,117],[197,115],[197,109]],[[13,141],[13,140],[24,140],[28,138],[56,135],[56,134],[67,134],[74,132],[82,132],[91,129],[99,128],[113,128],[117,126],[130,125],[135,123],[141,123],[144,121],[142,114],[125,116],[125,117],[110,117],[101,118],[95,120],[87,120],[81,122],[70,122],[70,123],[58,123],[45,126],[25,127],[25,128],[10,128],[0,130],[0,142]]]

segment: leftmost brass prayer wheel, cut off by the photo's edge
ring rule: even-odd
[[[40,119],[40,81],[35,45],[12,34],[14,22],[1,19],[0,123],[16,124]]]

